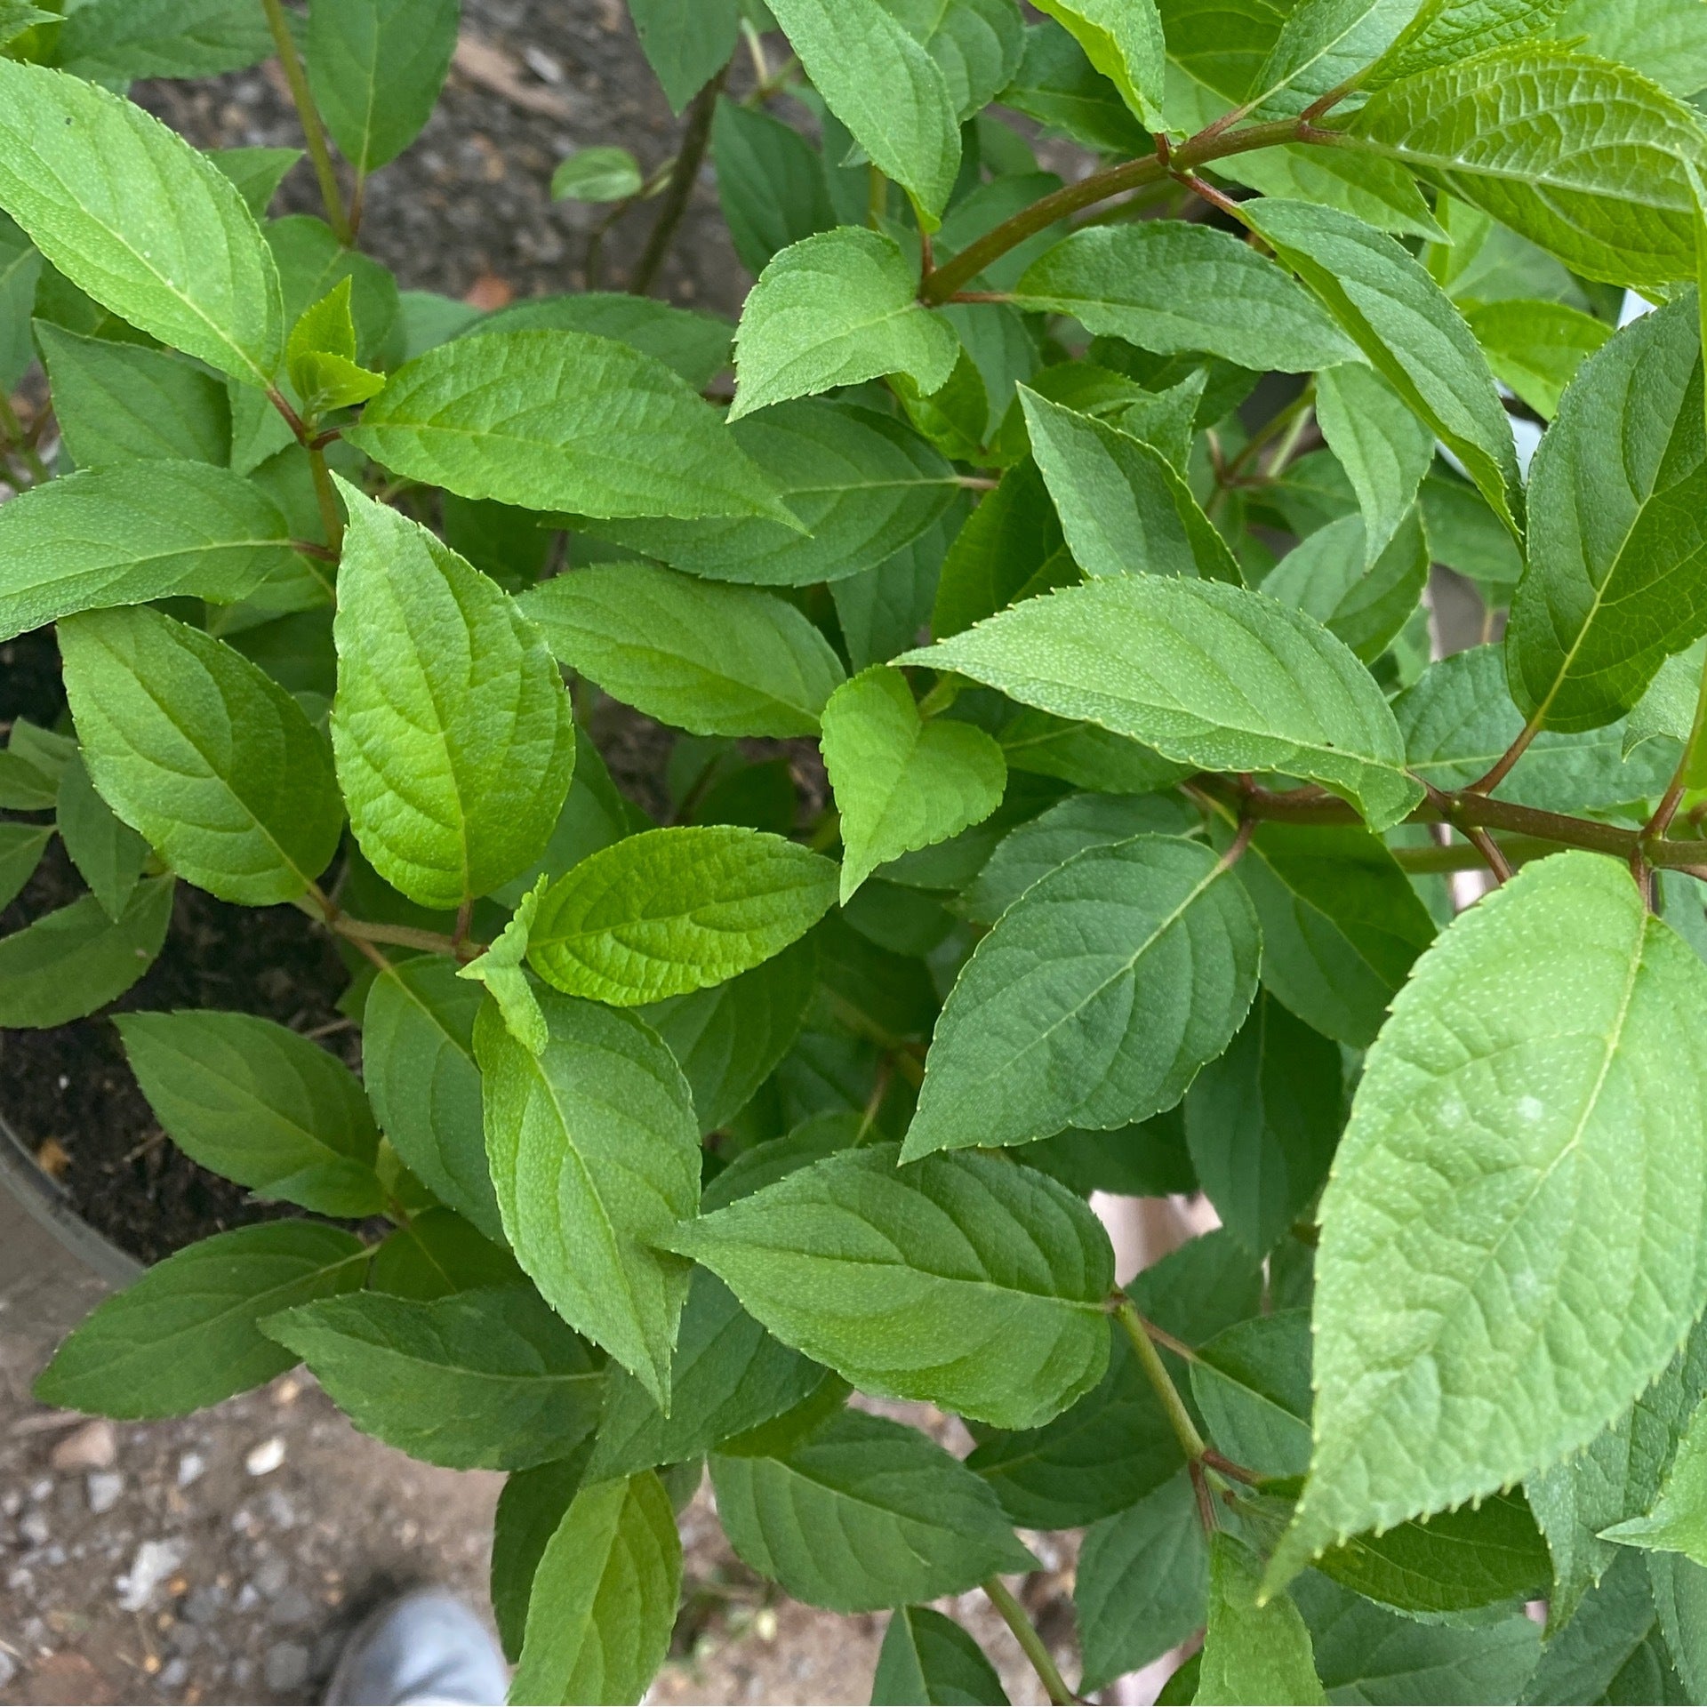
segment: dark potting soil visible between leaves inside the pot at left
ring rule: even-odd
[[[0,722],[22,715],[51,725],[61,707],[51,637],[0,647]],[[0,912],[0,934],[82,893],[55,840],[24,893]],[[236,1009],[318,1034],[353,1065],[358,1034],[335,1005],[348,982],[331,939],[294,906],[230,906],[179,883],[160,958],[104,1014]],[[104,1014],[48,1031],[0,1031],[0,1116],[50,1161],[79,1215],[152,1263],[229,1227],[300,1214],[251,1200],[160,1132]]]

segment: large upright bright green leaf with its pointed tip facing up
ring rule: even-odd
[[[545,637],[418,522],[345,485],[338,696],[350,826],[374,869],[454,908],[545,852],[575,763],[574,714]]]

